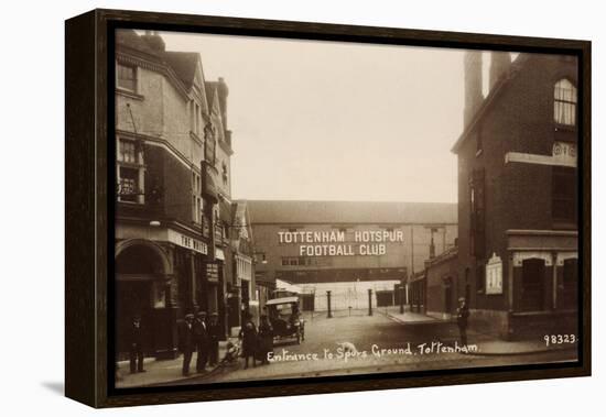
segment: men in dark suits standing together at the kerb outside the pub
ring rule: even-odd
[[[206,364],[214,366],[219,360],[219,338],[221,329],[218,315],[213,312],[207,322],[206,311],[185,315],[181,328],[181,351],[183,352],[183,376],[190,375],[190,365],[194,352],[197,353],[196,372],[206,372]]]

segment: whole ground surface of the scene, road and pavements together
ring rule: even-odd
[[[468,331],[469,347],[461,347],[458,328],[452,320],[440,320],[418,312],[399,314],[399,307],[347,311],[327,318],[316,311],[303,315],[305,340],[301,344],[274,345],[269,365],[244,369],[244,360],[207,367],[204,374],[181,375],[182,356],[145,361],[144,373],[129,373],[128,362],[119,363],[117,387],[206,384],[232,381],[314,377],[380,372],[409,372],[476,366],[572,361],[576,352],[561,347],[549,349],[541,341],[507,342],[487,332]],[[358,354],[345,354],[342,343],[351,343]],[[219,358],[225,355],[219,347]],[[560,348],[560,349],[558,349]],[[192,358],[195,370],[196,355]]]

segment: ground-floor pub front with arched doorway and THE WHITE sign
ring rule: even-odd
[[[177,320],[199,308],[205,289],[207,244],[172,228],[120,224],[116,237],[117,359],[128,358],[134,317],[147,356],[176,358]]]

